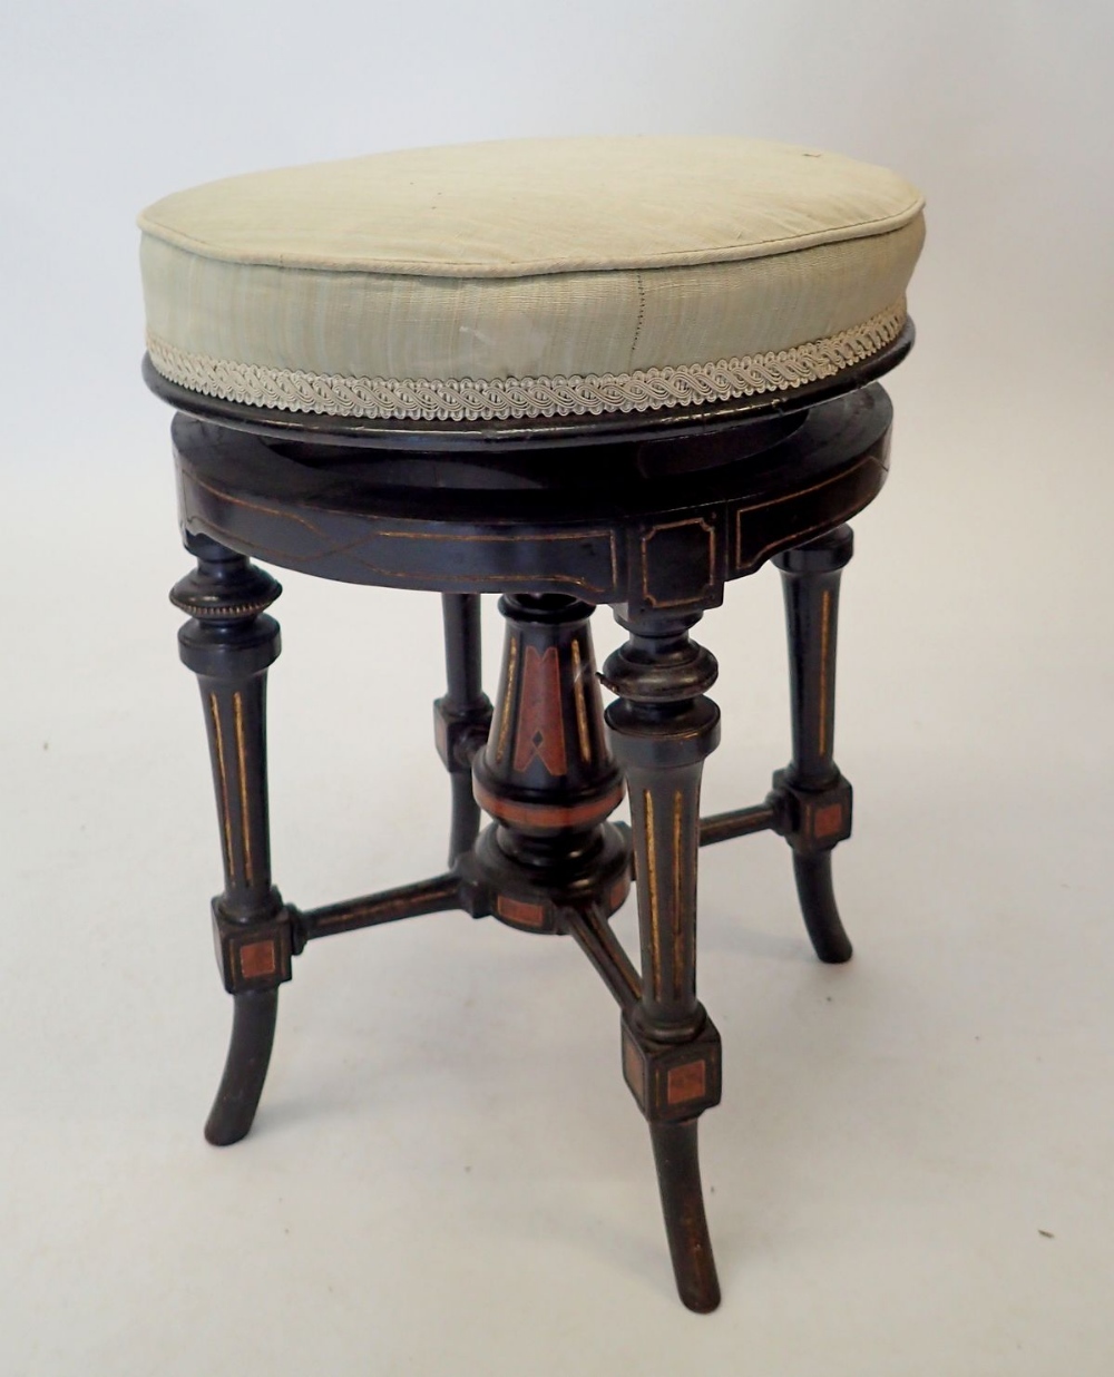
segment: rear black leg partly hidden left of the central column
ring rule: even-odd
[[[492,705],[481,682],[479,595],[442,593],[449,691],[434,704],[437,749],[452,785],[449,865],[470,851],[479,832],[472,797],[472,756],[487,739]]]

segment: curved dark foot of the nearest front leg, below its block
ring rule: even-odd
[[[720,1292],[704,1213],[697,1124],[651,1124],[650,1143],[677,1294],[689,1310],[706,1314],[719,1305]]]

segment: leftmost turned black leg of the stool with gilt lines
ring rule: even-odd
[[[291,978],[291,924],[271,885],[267,825],[267,666],[278,655],[278,622],[266,609],[281,588],[205,536],[187,536],[197,571],[171,602],[190,614],[179,632],[182,660],[197,675],[209,737],[224,891],[213,899],[218,961],[234,998],[224,1075],[205,1125],[219,1146],[251,1129],[274,1041],[278,986]]]

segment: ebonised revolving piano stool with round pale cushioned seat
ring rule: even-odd
[[[235,1012],[209,1142],[251,1128],[278,987],[307,942],[446,909],[567,934],[620,1007],[680,1297],[713,1310],[697,1121],[720,1097],[720,1040],[697,1000],[697,855],[779,833],[817,954],[851,956],[832,896],[851,832],[836,607],[845,522],[885,476],[877,379],[913,339],[921,197],[812,149],[555,139],[231,178],[140,227],[146,380],[178,410],[197,559],[172,600],[224,859],[212,912]],[[253,558],[442,595],[443,874],[318,909],[273,885],[280,587]],[[716,661],[690,631],[767,559],[785,585],[793,759],[764,803],[701,818]],[[485,592],[507,621],[494,705]],[[599,605],[628,640],[598,675]],[[624,790],[629,829],[607,821]],[[632,884],[638,965],[609,925]]]

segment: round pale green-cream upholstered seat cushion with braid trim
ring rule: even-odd
[[[207,397],[408,420],[704,405],[890,344],[884,168],[738,138],[516,140],[229,178],[140,216],[147,347]]]

